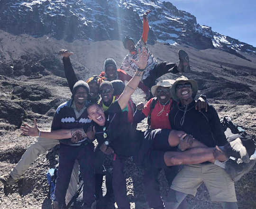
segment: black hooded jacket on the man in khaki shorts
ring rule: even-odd
[[[219,116],[213,106],[209,105],[208,112],[195,109],[195,101],[189,105],[182,106],[175,103],[169,113],[171,127],[191,134],[208,147],[227,144],[227,139],[221,127]]]

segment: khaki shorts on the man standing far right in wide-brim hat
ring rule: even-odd
[[[211,201],[237,202],[234,182],[223,168],[215,164],[184,165],[171,188],[195,196],[202,182],[209,191]]]

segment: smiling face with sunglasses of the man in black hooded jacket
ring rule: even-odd
[[[193,100],[192,86],[190,82],[181,81],[176,85],[176,96],[181,100]]]

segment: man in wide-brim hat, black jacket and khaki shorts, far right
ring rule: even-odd
[[[172,97],[178,101],[170,110],[169,120],[171,127],[182,130],[192,135],[207,147],[223,146],[227,139],[219,121],[219,116],[213,106],[208,106],[208,112],[195,110],[194,97],[198,85],[194,80],[181,76],[177,78],[171,88]],[[213,151],[217,155],[218,150]],[[229,174],[220,167],[221,163],[203,163],[184,165],[172,183],[171,189],[175,190],[178,207],[187,194],[196,194],[201,183],[205,183],[212,201],[218,201],[223,209],[238,209],[234,182]],[[188,181],[190,179],[191,181]],[[173,208],[168,204],[165,207]]]

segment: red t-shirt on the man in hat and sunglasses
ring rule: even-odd
[[[144,106],[145,109],[142,110],[144,115],[147,117],[150,112],[150,105],[154,98],[149,100],[146,105]],[[151,121],[150,121],[150,128],[156,129],[156,128],[167,128],[172,129],[170,122],[169,122],[169,112],[170,108],[172,106],[173,100],[169,102],[167,105],[161,105],[159,100],[156,101],[155,108],[152,110],[151,113]]]

